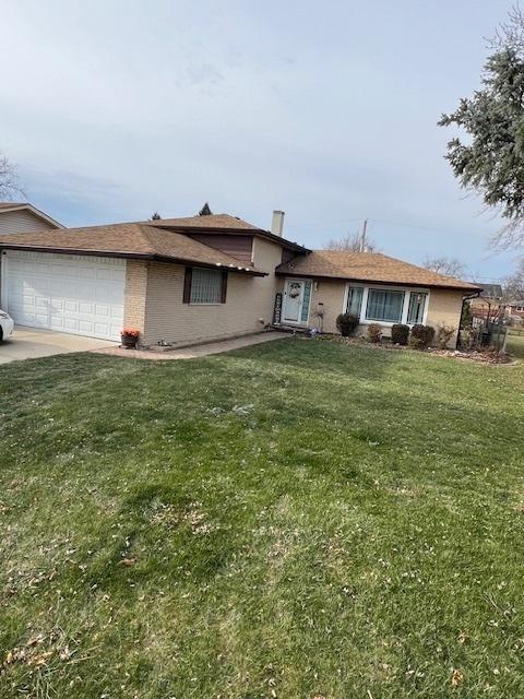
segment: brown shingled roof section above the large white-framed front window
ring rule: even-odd
[[[456,288],[472,293],[480,291],[480,287],[475,284],[430,272],[381,252],[313,250],[310,254],[297,257],[289,262],[279,264],[276,272],[291,276],[318,276],[355,282]]]

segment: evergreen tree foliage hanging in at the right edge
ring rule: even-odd
[[[524,241],[524,16],[515,8],[491,43],[483,86],[439,126],[456,126],[468,139],[448,143],[446,159],[461,185],[479,193],[508,221],[505,246]]]

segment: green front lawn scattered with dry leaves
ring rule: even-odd
[[[524,696],[523,380],[320,340],[1,367],[0,697]]]

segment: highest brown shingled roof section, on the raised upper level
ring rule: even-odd
[[[155,228],[168,228],[175,230],[183,230],[187,233],[215,233],[215,234],[237,234],[237,235],[254,235],[269,240],[274,240],[282,245],[282,247],[289,250],[296,250],[297,252],[309,252],[308,248],[276,236],[271,230],[264,230],[253,224],[242,221],[237,216],[230,216],[229,214],[210,214],[209,216],[186,216],[184,218],[157,218],[155,221],[147,221],[147,225],[155,226]]]

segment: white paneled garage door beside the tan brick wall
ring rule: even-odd
[[[20,325],[118,340],[126,260],[8,250],[3,304]]]

